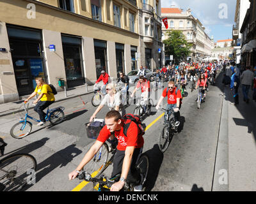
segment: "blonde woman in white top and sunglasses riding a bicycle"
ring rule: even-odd
[[[115,85],[112,83],[106,86],[106,91],[107,94],[102,99],[99,107],[93,113],[92,117],[90,118],[90,122],[93,121],[97,113],[100,112],[104,105],[108,105],[109,110],[117,110],[122,116],[125,115],[125,109],[122,105],[121,92],[116,92]]]

